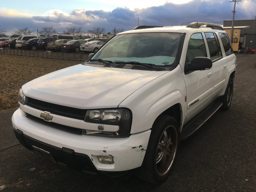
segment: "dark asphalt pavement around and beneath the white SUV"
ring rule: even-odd
[[[74,171],[25,149],[11,116],[0,111],[0,191],[256,191],[256,54],[236,54],[234,95],[181,143],[171,176],[161,185],[134,175],[108,178]]]

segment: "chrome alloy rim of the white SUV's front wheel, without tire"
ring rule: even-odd
[[[159,140],[156,150],[156,171],[164,176],[172,167],[178,147],[178,133],[173,125],[169,125]]]

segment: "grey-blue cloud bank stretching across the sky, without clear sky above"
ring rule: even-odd
[[[83,27],[83,32],[92,27],[106,28],[106,33],[115,28],[130,30],[138,25],[172,26],[189,24],[190,22],[212,22],[222,24],[223,20],[232,20],[234,4],[226,0],[192,0],[185,4],[173,4],[166,1],[164,5],[143,9],[117,7],[112,11],[76,9],[63,12],[59,9],[48,10],[42,15],[28,16],[15,10],[0,9],[1,25],[8,31],[28,27],[41,30],[42,27],[53,26],[62,32],[67,27]],[[256,2],[244,0],[236,5],[236,20],[254,19]],[[3,12],[1,12],[1,10]],[[7,14],[7,12],[9,12]],[[139,20],[138,20],[139,18]]]

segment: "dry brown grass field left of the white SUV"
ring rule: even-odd
[[[0,54],[0,110],[17,107],[18,91],[23,84],[79,63],[81,61]]]

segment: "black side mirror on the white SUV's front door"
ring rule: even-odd
[[[212,68],[212,60],[207,57],[195,57],[191,62],[185,63],[184,72],[199,71]]]

